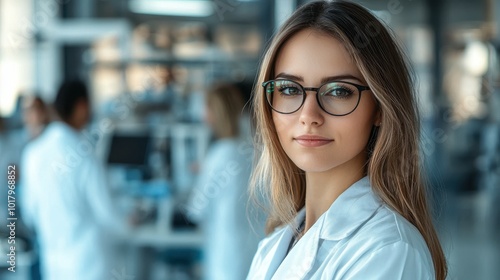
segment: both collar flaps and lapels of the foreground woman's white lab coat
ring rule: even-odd
[[[320,239],[338,241],[348,237],[380,206],[381,202],[372,192],[368,177],[360,179],[335,200],[285,258],[293,227],[300,224],[306,214],[305,208],[302,208],[295,216],[294,224],[278,229],[269,238],[268,244],[276,244],[262,252],[263,263],[269,266],[260,270],[265,275],[251,279],[305,279],[316,261]]]

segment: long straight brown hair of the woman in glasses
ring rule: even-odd
[[[436,279],[445,279],[446,260],[421,177],[419,114],[411,68],[386,26],[355,3],[320,1],[299,8],[282,25],[262,60],[253,96],[256,145],[261,153],[251,192],[264,195],[270,204],[267,230],[292,222],[305,204],[305,174],[283,151],[261,86],[274,78],[276,56],[283,44],[304,29],[339,40],[373,92],[383,124],[366,165],[371,186],[420,231],[431,252]]]

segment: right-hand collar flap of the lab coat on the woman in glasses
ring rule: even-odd
[[[365,176],[347,188],[323,214],[319,238],[341,240],[355,232],[382,205]]]

